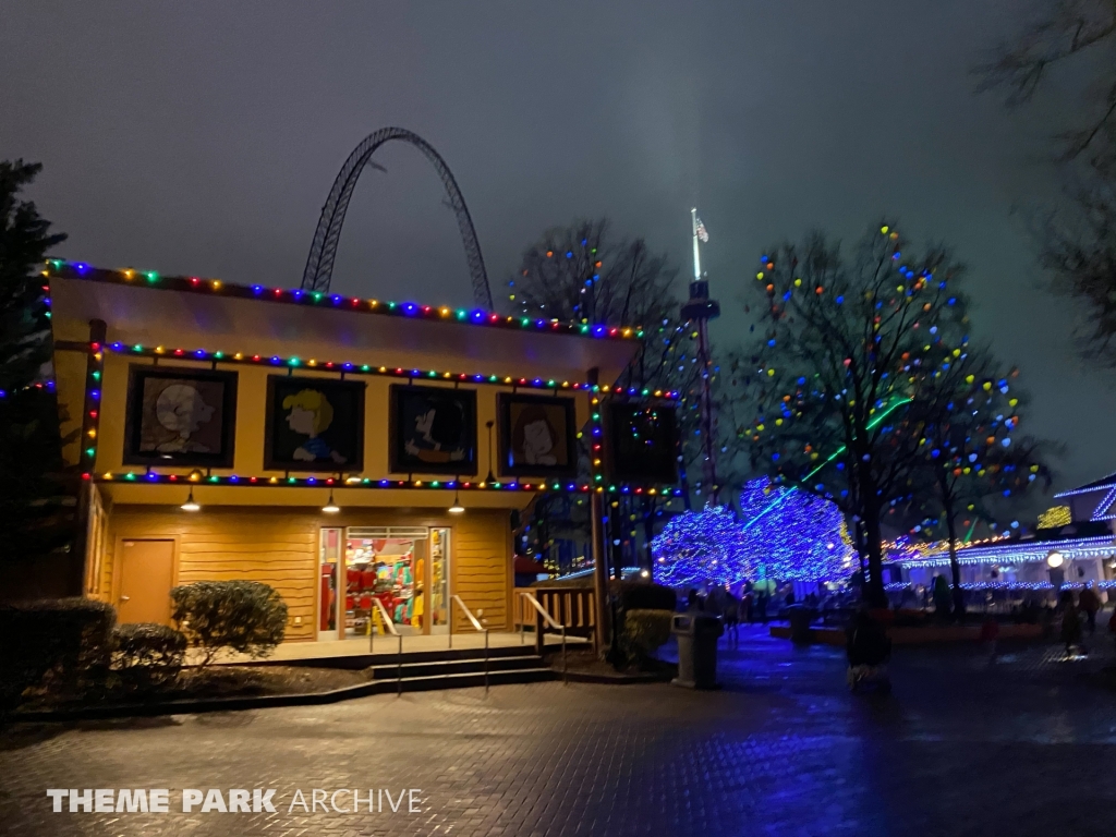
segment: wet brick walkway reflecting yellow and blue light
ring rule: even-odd
[[[18,728],[0,735],[0,831],[1110,835],[1116,691],[1084,676],[1110,645],[1088,661],[1001,648],[993,664],[904,648],[892,698],[854,696],[839,652],[757,629],[711,694],[542,683]],[[51,814],[54,787],[170,788],[172,812]],[[180,810],[182,788],[257,787],[277,812]],[[423,810],[288,812],[296,789],[354,787],[421,788]]]

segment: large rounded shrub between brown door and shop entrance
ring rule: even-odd
[[[287,631],[287,604],[260,581],[198,581],[172,589],[171,600],[172,618],[202,650],[202,665],[224,650],[267,656]]]

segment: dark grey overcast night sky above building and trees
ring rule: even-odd
[[[1026,218],[1058,193],[1049,136],[1079,116],[1077,79],[1009,113],[971,75],[1026,6],[6,0],[0,158],[45,164],[31,196],[69,233],[59,256],[294,287],[346,156],[407,127],[453,170],[498,300],[522,249],[581,217],[684,280],[696,202],[718,347],[745,333],[766,246],[814,227],[852,243],[887,214],[970,264],[973,336],[1020,366],[1022,430],[1068,446],[1070,488],[1116,471],[1116,379],[1076,359]],[[376,160],[334,288],[469,304],[436,175],[402,144]]]

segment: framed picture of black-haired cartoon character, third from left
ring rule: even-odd
[[[477,473],[477,392],[391,388],[388,459],[393,473]]]

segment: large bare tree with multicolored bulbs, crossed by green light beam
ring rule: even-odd
[[[942,249],[913,252],[888,224],[852,259],[815,233],[757,267],[760,335],[729,376],[739,449],[850,517],[866,596],[883,604],[881,523],[920,458],[908,407],[961,353],[962,268]]]

